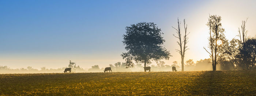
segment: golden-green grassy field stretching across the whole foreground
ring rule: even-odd
[[[256,71],[1,74],[0,95],[256,95]]]

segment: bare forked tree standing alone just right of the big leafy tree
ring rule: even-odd
[[[180,46],[180,50],[176,49],[176,51],[180,53],[180,56],[181,56],[181,71],[184,71],[184,57],[185,57],[185,51],[188,50],[187,43],[188,43],[188,34],[189,33],[187,34],[187,24],[185,24],[185,19],[184,19],[185,35],[184,35],[184,38],[183,38],[183,41],[182,41],[181,40],[181,38],[182,38],[181,37],[181,32],[180,32],[180,24],[181,24],[181,22],[178,19],[178,28],[177,29],[174,28],[174,27],[172,27],[172,28],[176,29],[176,31],[177,31],[176,33],[177,33],[178,36],[175,36],[174,34],[173,34],[173,36],[176,37],[179,40],[179,41],[177,41],[177,43]],[[182,46],[182,44],[183,44],[183,46]],[[182,47],[183,47],[183,49],[182,49]]]

